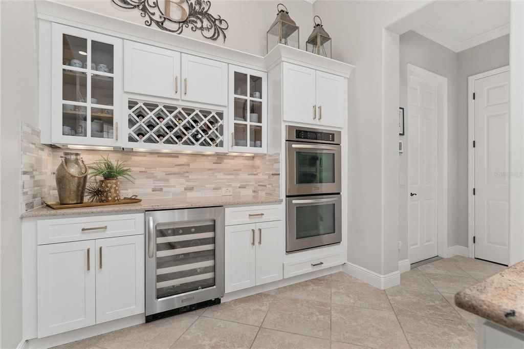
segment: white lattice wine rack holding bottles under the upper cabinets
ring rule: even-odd
[[[129,143],[224,146],[224,113],[221,111],[135,100],[129,100],[128,108]]]

